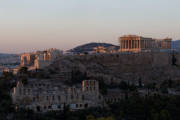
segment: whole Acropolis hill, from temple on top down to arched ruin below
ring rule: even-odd
[[[47,49],[22,54],[11,94],[13,103],[37,112],[64,110],[66,105],[81,110],[107,107],[134,92],[146,96],[152,85],[158,94],[166,94],[162,88],[166,81],[178,86],[180,54],[171,49],[171,39],[128,35],[120,43],[119,50],[99,45],[84,53]],[[122,91],[123,84],[131,93]],[[177,90],[170,93],[179,94]]]

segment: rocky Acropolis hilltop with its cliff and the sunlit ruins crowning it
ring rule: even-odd
[[[41,54],[22,54],[21,66],[51,69],[57,74],[50,76],[60,81],[72,80],[72,71],[80,71],[88,78],[101,79],[108,84],[121,81],[136,84],[139,80],[175,80],[180,76],[180,54],[171,50],[171,41],[171,38],[125,35],[119,39],[119,50],[115,46],[105,48],[99,44],[92,50],[85,51],[86,54],[63,55],[62,52],[52,49]],[[176,63],[172,63],[173,59]]]

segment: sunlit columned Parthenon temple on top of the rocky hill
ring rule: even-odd
[[[153,39],[136,35],[120,37],[120,52],[152,51],[153,49],[171,49],[171,38]]]

